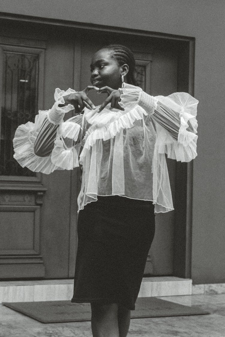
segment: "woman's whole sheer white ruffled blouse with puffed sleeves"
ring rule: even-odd
[[[155,212],[173,210],[165,153],[188,162],[197,156],[197,104],[188,93],[153,97],[123,83],[120,105],[100,113],[84,109],[63,122],[73,105],[63,96],[75,92],[56,89],[55,104],[39,111],[35,122],[15,133],[14,158],[33,172],[73,170],[83,166],[79,210],[98,195],[121,195],[148,200]],[[80,149],[83,147],[81,153]],[[80,153],[80,158],[78,158]]]

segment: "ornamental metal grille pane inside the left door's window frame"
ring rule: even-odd
[[[3,57],[0,175],[33,177],[34,172],[13,158],[12,140],[18,125],[34,122],[39,55],[5,51]]]

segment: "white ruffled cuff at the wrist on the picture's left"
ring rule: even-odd
[[[75,92],[76,91],[71,88],[67,89],[66,91],[60,90],[59,88],[55,89],[54,94],[55,103],[52,109],[48,112],[48,119],[52,124],[60,124],[63,121],[65,113],[74,109],[74,106],[72,104],[68,104],[62,107],[59,107],[59,104],[65,103],[63,97],[68,96]]]

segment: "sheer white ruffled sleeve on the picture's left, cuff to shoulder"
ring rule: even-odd
[[[81,131],[82,116],[75,116],[63,122],[64,114],[74,106],[64,104],[63,97],[75,92],[55,91],[52,109],[39,111],[34,123],[20,125],[13,139],[14,158],[22,167],[33,172],[50,174],[55,170],[72,170],[79,166],[78,138]]]

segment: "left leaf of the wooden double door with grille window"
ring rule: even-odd
[[[2,279],[74,273],[77,172],[35,174],[13,159],[12,148],[17,126],[50,109],[55,88],[74,86],[74,37],[60,31],[10,23],[0,36]]]

